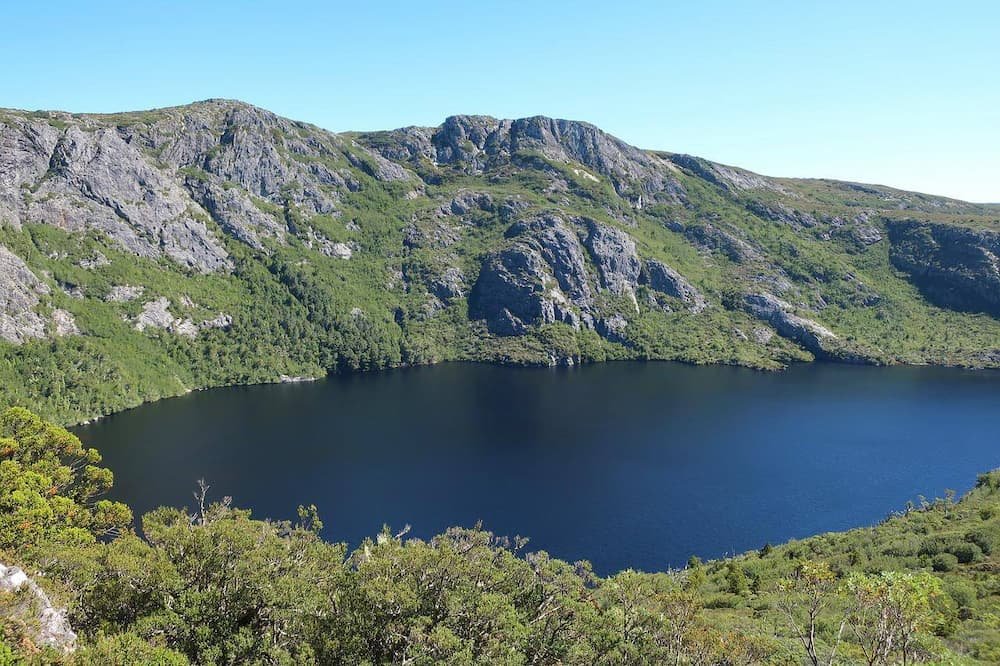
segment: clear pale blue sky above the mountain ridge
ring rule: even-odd
[[[1000,201],[1000,2],[18,2],[0,106],[242,99],[332,130],[587,120],[776,176]]]

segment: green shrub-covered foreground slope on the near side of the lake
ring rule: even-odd
[[[874,528],[600,578],[478,528],[348,552],[315,507],[292,524],[197,501],[136,534],[98,499],[99,462],[26,410],[0,416],[0,562],[79,634],[46,648],[0,595],[0,664],[1000,662],[998,472]]]

